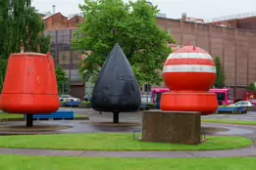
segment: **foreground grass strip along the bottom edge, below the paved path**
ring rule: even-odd
[[[2,170],[254,170],[255,158],[90,158],[0,155]]]

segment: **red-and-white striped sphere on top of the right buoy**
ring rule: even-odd
[[[216,80],[216,65],[203,49],[185,46],[168,57],[163,77],[171,91],[208,91]]]

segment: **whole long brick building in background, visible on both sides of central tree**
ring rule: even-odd
[[[78,74],[81,55],[72,50],[71,44],[77,24],[84,20],[80,16],[68,19],[60,13],[43,19],[47,29],[45,34],[52,37],[51,53],[55,63],[60,64],[70,76],[72,95],[81,98],[84,91],[89,92]],[[220,57],[226,71],[226,84],[234,91],[256,81],[256,31],[220,26],[216,22],[172,20],[165,16],[157,20],[159,27],[172,34],[178,45],[190,42],[209,52],[212,57]]]

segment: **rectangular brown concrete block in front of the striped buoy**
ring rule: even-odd
[[[201,114],[199,112],[144,111],[142,141],[198,145],[201,143]]]

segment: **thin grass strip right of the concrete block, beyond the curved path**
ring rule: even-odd
[[[244,121],[244,120],[225,120],[225,119],[202,119],[203,123],[225,123],[236,125],[251,125],[255,126],[256,121]]]

